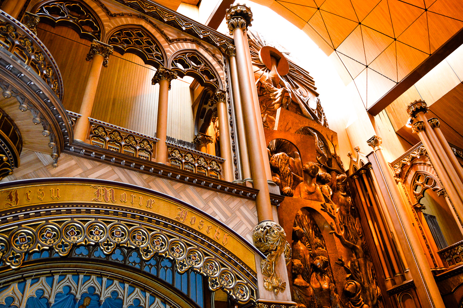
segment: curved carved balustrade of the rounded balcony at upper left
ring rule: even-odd
[[[50,52],[26,25],[3,11],[0,12],[0,45],[31,67],[59,99],[63,98],[63,79]]]

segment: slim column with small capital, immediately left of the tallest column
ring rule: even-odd
[[[251,169],[249,165],[248,145],[246,144],[246,133],[244,130],[243,107],[241,101],[241,94],[239,93],[239,80],[238,80],[238,67],[236,64],[236,48],[235,46],[228,46],[225,50],[226,55],[230,60],[230,73],[232,75],[232,92],[233,101],[236,113],[238,140],[239,140],[239,154],[241,167],[243,169],[243,182],[251,180]]]

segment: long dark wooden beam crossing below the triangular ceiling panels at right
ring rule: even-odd
[[[382,98],[376,101],[371,107],[367,109],[368,113],[375,116],[380,113],[384,108],[388,107],[395,99],[412,87],[424,75],[429,73],[436,65],[448,57],[460,45],[463,44],[463,28],[455,33],[451,38],[442,44],[438,50],[434,51],[431,56],[427,57],[419,66],[411,71],[405,78],[397,83],[394,88],[390,89],[388,93],[384,94]]]

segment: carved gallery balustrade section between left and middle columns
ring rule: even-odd
[[[153,158],[154,145],[159,139],[96,119],[88,119],[90,129],[87,138],[91,145],[149,161]]]

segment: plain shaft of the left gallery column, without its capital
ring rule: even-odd
[[[88,125],[90,123],[88,121],[88,117],[92,114],[103,60],[103,56],[96,54],[94,55],[92,65],[90,66],[90,74],[88,75],[84,97],[82,99],[81,108],[79,110],[81,117],[77,120],[77,124],[75,125],[74,139],[78,141],[84,142],[87,138]]]

